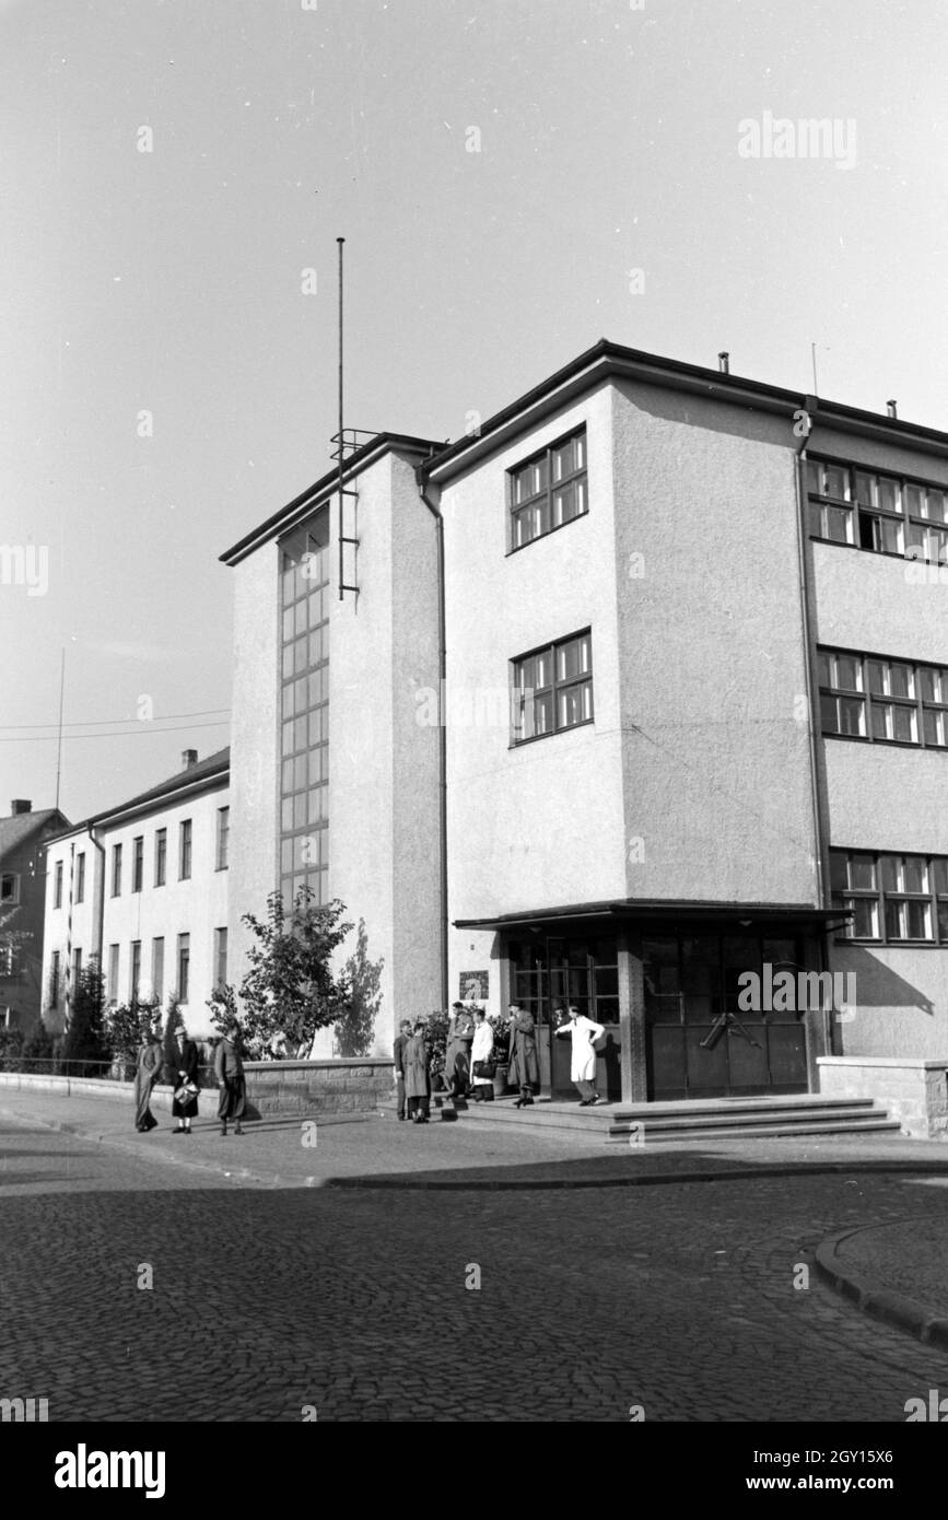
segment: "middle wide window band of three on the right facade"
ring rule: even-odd
[[[833,649],[817,661],[823,734],[948,748],[948,670]]]

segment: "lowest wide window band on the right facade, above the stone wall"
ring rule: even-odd
[[[831,850],[830,869],[843,938],[948,945],[948,857]]]

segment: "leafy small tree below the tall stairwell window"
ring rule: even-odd
[[[308,886],[299,888],[289,912],[283,892],[267,897],[267,917],[245,914],[257,944],[240,983],[243,1041],[252,1059],[272,1055],[281,1037],[290,1050],[308,1050],[318,1029],[336,1023],[349,1003],[349,983],[334,977],[330,961],[352,924],[340,923],[345,903],[318,906]]]

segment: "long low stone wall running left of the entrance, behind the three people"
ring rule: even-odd
[[[374,1113],[390,1104],[395,1091],[390,1056],[365,1061],[246,1061],[248,1113],[254,1114],[333,1114]],[[109,1082],[87,1076],[33,1076],[26,1072],[0,1072],[0,1090],[59,1093],[87,1097],[112,1097],[131,1104],[132,1082]],[[217,1108],[217,1090],[202,1088],[207,1104]],[[155,1087],[152,1108],[170,1108],[172,1088]]]

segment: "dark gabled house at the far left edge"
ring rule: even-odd
[[[44,847],[68,828],[58,807],[33,813],[29,798],[14,798],[0,818],[0,1023],[32,1029],[43,985]]]

